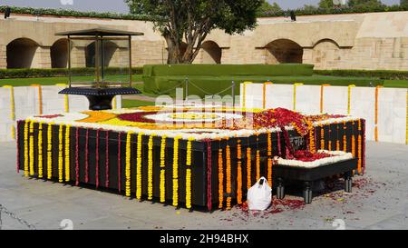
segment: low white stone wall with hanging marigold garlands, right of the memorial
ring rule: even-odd
[[[366,120],[367,140],[408,144],[407,89],[270,83],[240,87],[242,107],[351,114]]]

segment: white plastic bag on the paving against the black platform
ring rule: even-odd
[[[259,184],[263,180],[263,184]],[[248,189],[248,209],[249,210],[266,210],[272,201],[272,189],[267,184],[265,177],[259,178],[257,184]]]

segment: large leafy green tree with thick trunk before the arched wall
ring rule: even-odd
[[[207,35],[216,28],[240,34],[257,25],[263,0],[125,0],[136,15],[157,18],[154,27],[165,38],[168,63],[192,63]]]

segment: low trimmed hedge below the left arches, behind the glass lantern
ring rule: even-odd
[[[141,74],[141,67],[131,68],[132,74]],[[82,67],[72,68],[73,75],[93,75],[94,68]],[[107,74],[123,74],[126,70],[119,67],[110,67],[105,71]],[[68,69],[54,68],[54,69],[0,69],[0,79],[4,78],[27,78],[27,77],[52,77],[52,76],[66,76]]]

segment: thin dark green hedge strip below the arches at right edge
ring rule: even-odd
[[[386,80],[408,80],[408,71],[390,70],[315,70],[315,74],[335,75],[335,76],[362,76],[373,77]]]

